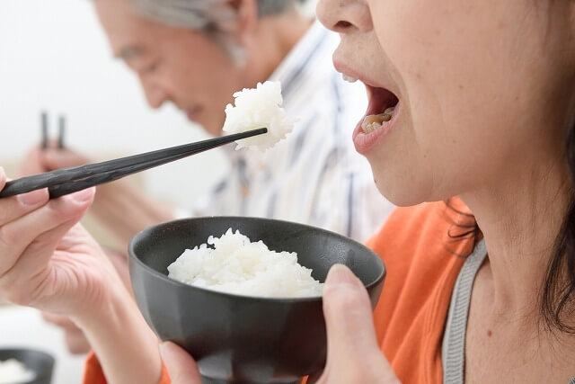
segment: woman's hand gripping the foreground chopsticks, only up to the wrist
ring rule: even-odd
[[[0,190],[4,188],[0,171]],[[93,189],[49,201],[47,190],[0,200],[0,295],[15,304],[86,316],[106,301],[113,267],[76,225]]]

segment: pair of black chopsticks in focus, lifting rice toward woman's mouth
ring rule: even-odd
[[[223,146],[235,140],[251,138],[266,132],[268,132],[267,128],[253,129],[178,147],[169,147],[140,155],[121,157],[102,163],[57,169],[44,174],[26,176],[6,183],[4,189],[0,191],[0,198],[48,188],[50,199],[56,199],[68,193],[82,191],[102,183],[110,183],[128,176],[128,174],[136,174],[158,165],[164,165],[208,149]]]

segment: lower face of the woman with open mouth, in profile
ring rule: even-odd
[[[320,20],[341,32],[334,64],[366,83],[367,115],[395,106],[354,132],[380,192],[398,205],[438,201],[561,152],[575,85],[573,7],[322,0]]]

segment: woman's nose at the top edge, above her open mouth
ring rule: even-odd
[[[373,29],[366,0],[321,0],[317,4],[316,13],[326,28],[338,33],[367,32]]]

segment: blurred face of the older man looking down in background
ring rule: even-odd
[[[150,106],[172,102],[219,135],[226,103],[242,88],[242,68],[203,32],[144,19],[126,0],[94,4],[114,56],[137,74]]]

